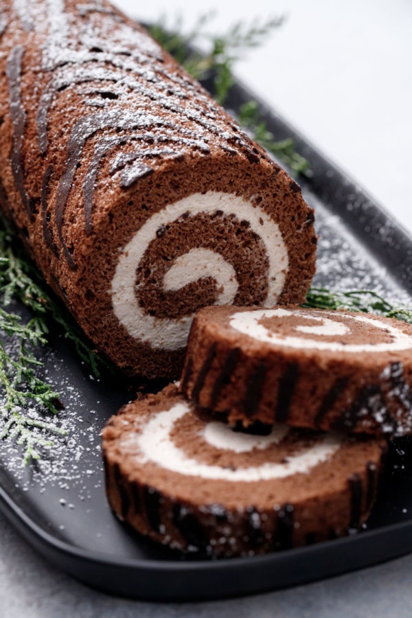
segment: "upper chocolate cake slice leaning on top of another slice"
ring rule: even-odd
[[[231,424],[412,433],[412,326],[345,311],[205,308],[181,390]]]

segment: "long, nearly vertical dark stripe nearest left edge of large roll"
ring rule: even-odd
[[[26,114],[21,102],[21,60],[24,54],[23,45],[16,45],[10,52],[5,69],[8,78],[10,95],[10,115],[13,123],[13,150],[12,150],[12,172],[14,182],[23,201],[23,205],[30,216],[33,218],[30,199],[25,190],[25,179],[21,165],[21,150],[23,148],[24,130],[26,124]]]

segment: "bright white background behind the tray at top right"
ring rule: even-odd
[[[155,21],[188,27],[216,10],[211,29],[286,16],[236,75],[412,231],[412,3],[409,0],[117,0]]]

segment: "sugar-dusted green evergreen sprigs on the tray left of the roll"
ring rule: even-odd
[[[19,240],[0,217],[0,438],[23,446],[23,460],[39,459],[52,446],[51,437],[64,436],[53,415],[62,408],[59,394],[39,377],[43,363],[35,350],[47,344],[49,323],[58,325],[78,355],[99,373],[99,358],[60,303],[46,290]],[[25,323],[8,311],[13,301],[32,315]],[[42,417],[42,413],[44,418]],[[46,419],[49,420],[46,420]]]

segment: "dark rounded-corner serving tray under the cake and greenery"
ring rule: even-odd
[[[229,106],[236,110],[253,98],[237,85]],[[312,168],[312,178],[301,184],[321,234],[314,284],[378,290],[409,304],[412,240],[284,120],[263,104],[261,111],[278,139],[295,139]],[[390,446],[378,501],[358,534],[227,560],[182,558],[153,545],[114,518],[104,494],[100,429],[130,392],[119,380],[91,378],[61,335],[42,354],[47,377],[67,406],[60,416],[69,435],[49,461],[25,469],[19,448],[0,444],[0,507],[38,551],[78,580],[139,599],[217,599],[302,584],[412,551],[408,438]]]

